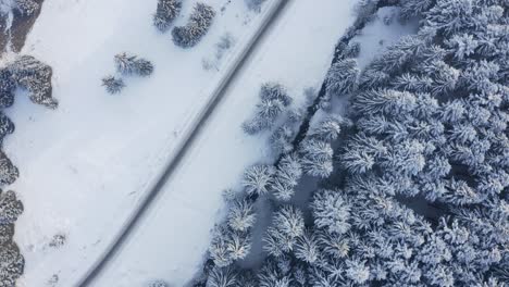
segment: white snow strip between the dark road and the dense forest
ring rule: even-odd
[[[247,165],[271,161],[268,135],[249,137],[240,128],[259,100],[260,85],[280,82],[288,87],[296,105],[303,104],[303,89],[321,84],[334,45],[352,24],[355,2],[289,1],[285,14],[247,61],[144,217],[144,224],[94,286],[142,286],[152,278],[183,286],[200,270],[210,229],[224,209],[222,190],[239,183]]]

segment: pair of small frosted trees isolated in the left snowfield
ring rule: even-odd
[[[114,62],[116,72],[124,76],[148,77],[153,73],[153,65],[150,61],[126,52],[115,54]],[[119,93],[125,87],[125,83],[122,77],[108,75],[102,78],[102,86],[109,93]]]

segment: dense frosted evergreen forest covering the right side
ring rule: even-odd
[[[214,236],[214,264],[200,284],[509,282],[507,1],[397,4],[401,17],[421,18],[419,33],[362,72],[355,59],[332,65],[324,85],[335,97],[350,95],[351,121],[325,116],[275,166],[246,171],[245,192]],[[300,210],[293,199],[307,186],[299,186],[302,173],[321,182]],[[275,205],[263,237],[268,255],[244,270],[235,262],[248,258],[260,196]]]

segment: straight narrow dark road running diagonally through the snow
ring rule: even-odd
[[[261,25],[258,27],[251,39],[247,42],[246,48],[232,62],[231,67],[224,74],[223,78],[219,82],[219,85],[211,93],[211,97],[209,98],[206,107],[195,115],[193,118],[193,124],[182,135],[182,140],[175,148],[174,154],[162,169],[162,173],[157,177],[158,179],[154,180],[154,184],[151,188],[149,188],[149,191],[146,192],[146,195],[140,199],[139,204],[135,208],[111,244],[108,245],[105,251],[88,269],[76,286],[92,286],[92,283],[101,273],[101,271],[120,253],[122,246],[126,242],[131,233],[135,229],[136,226],[141,224],[144,215],[160,195],[161,190],[174,171],[176,171],[182,159],[188,151],[189,147],[191,147],[193,141],[197,138],[198,134],[202,129],[203,124],[207,122],[213,110],[218,107],[218,103],[223,98],[225,93],[224,91],[228,88],[229,84],[235,80],[235,75],[241,70],[244,63],[261,42],[263,35],[269,30],[271,24],[274,23],[274,21],[282,14],[281,12],[289,1],[291,0],[274,0],[271,3],[272,5],[263,16]]]

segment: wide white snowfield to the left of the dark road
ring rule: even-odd
[[[195,2],[185,1],[176,25],[187,21]],[[212,29],[197,47],[183,50],[151,26],[156,0],[45,1],[23,53],[53,67],[60,107],[49,111],[18,97],[8,112],[16,133],[4,144],[21,171],[11,188],[25,204],[16,225],[27,262],[20,286],[44,286],[53,274],[59,286],[72,286],[103,250],[202,108],[222,67],[260,24],[261,14],[247,11],[243,1],[228,2],[207,1],[218,11]],[[202,59],[215,53],[226,33],[236,45],[219,71],[204,71]],[[121,51],[151,60],[156,71],[150,78],[127,78],[127,88],[111,96],[100,78],[114,72],[112,58]],[[67,238],[60,249],[49,247],[55,234]]]

